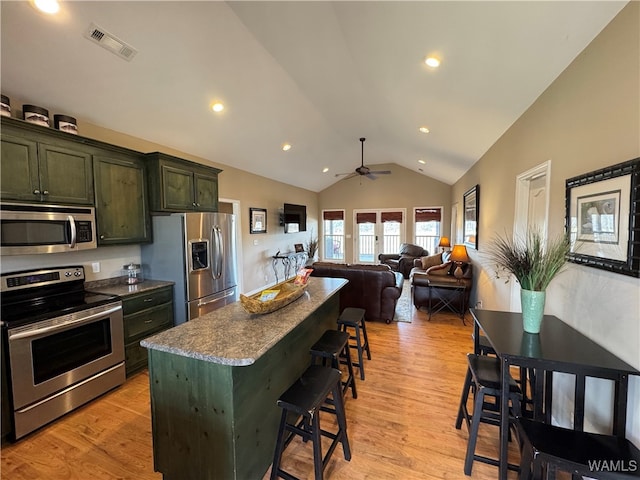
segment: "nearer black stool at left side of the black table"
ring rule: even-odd
[[[469,441],[467,442],[464,473],[465,475],[471,475],[474,460],[496,467],[498,466],[496,459],[476,455],[475,451],[480,422],[500,426],[501,365],[499,358],[473,353],[467,354],[467,361],[469,367],[467,368],[467,376],[464,381],[464,387],[462,388],[456,428],[459,430],[462,427],[462,420],[464,419],[466,421],[467,428],[469,429]],[[470,415],[467,409],[467,400],[469,398],[469,392],[472,389],[475,389],[475,401],[473,404],[473,415]],[[486,397],[492,397],[494,402],[487,402]],[[522,394],[520,387],[513,378],[509,381],[509,400],[511,401],[511,409],[513,410],[515,421],[515,417],[520,415]],[[509,465],[509,468],[515,471],[518,470],[516,465]]]

